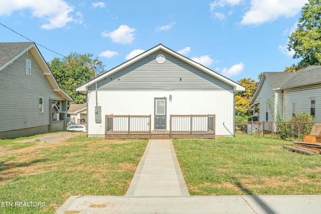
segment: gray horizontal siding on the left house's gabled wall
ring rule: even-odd
[[[26,78],[26,59],[32,75]],[[49,99],[63,100],[53,91],[37,61],[29,52],[0,71],[0,132],[49,125]],[[39,97],[43,97],[43,114],[39,114]]]

